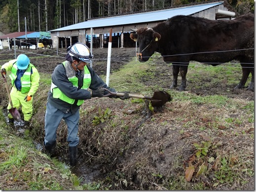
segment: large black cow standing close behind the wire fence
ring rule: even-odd
[[[140,62],[146,62],[154,52],[161,53],[166,63],[173,64],[173,83],[176,88],[178,74],[182,77],[179,91],[186,87],[189,61],[216,66],[240,61],[243,75],[235,89],[242,89],[250,72],[252,80],[247,88],[254,91],[254,14],[242,15],[234,20],[208,20],[191,16],[175,16],[153,28],[132,30],[130,37],[138,39]]]

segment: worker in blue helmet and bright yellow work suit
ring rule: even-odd
[[[10,92],[14,108],[19,109],[22,106],[24,115],[24,124],[29,126],[29,121],[33,115],[33,96],[39,86],[39,73],[37,68],[30,63],[28,56],[21,54],[15,60],[11,60],[1,66],[1,74],[6,76],[6,71],[10,71],[12,89]],[[7,109],[10,109],[10,103]],[[8,113],[9,123],[13,124],[14,119]]]

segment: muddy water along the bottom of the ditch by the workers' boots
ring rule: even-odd
[[[4,118],[6,123],[10,126],[10,128],[13,130],[13,133],[19,137],[25,137],[25,131],[28,129],[24,125],[24,121],[21,120],[20,122],[14,121],[14,125],[9,124],[8,122],[8,110],[3,109],[2,110]],[[37,141],[33,141],[35,148],[38,151],[42,151],[44,153],[44,148],[42,143],[38,143]],[[58,157],[57,157],[58,158]],[[92,182],[97,182],[100,178],[102,178],[102,173],[101,173],[101,166],[100,165],[95,165],[95,166],[89,166],[88,163],[83,160],[82,158],[79,158],[78,154],[78,163],[74,167],[69,166],[69,154],[62,154],[61,157],[58,158],[61,162],[66,164],[66,168],[70,168],[71,172],[75,174],[78,178],[81,178],[80,185],[83,185],[85,183],[92,183]]]

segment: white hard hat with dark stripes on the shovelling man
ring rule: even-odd
[[[67,49],[68,54],[85,63],[92,63],[93,55],[83,43],[75,43]]]

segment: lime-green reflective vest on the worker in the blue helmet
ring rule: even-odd
[[[28,68],[26,69],[26,71],[24,72],[23,76],[21,77],[20,81],[21,81],[21,93],[27,93],[30,90],[31,87],[31,68],[32,66],[34,66],[33,64],[29,64]],[[11,73],[9,75],[10,79],[11,79],[11,84],[12,86],[14,85],[14,81],[17,78],[17,71],[18,71],[18,67],[16,62],[12,65],[11,67]]]

